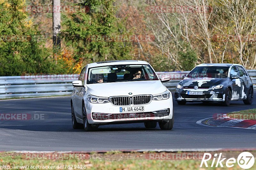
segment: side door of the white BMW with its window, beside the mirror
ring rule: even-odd
[[[81,81],[83,80],[84,71],[85,71],[85,68],[81,71],[78,80],[81,80]],[[81,108],[80,108],[80,104],[79,104],[79,102],[80,102],[80,100],[79,100],[80,94],[79,94],[79,93],[81,93],[81,89],[82,89],[82,88],[83,88],[83,87],[74,87],[74,88],[73,88],[74,96],[73,96],[73,98],[72,98],[72,101],[73,101],[74,111],[76,112],[76,116],[81,115],[81,114],[80,114]],[[80,117],[80,116],[79,116],[79,117]]]

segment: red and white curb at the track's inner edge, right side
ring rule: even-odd
[[[235,119],[222,115],[219,118],[205,118],[196,122],[198,125],[208,127],[229,127],[229,128],[244,128],[244,129],[256,129],[256,120],[249,119]]]

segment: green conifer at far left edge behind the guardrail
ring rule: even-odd
[[[26,21],[22,3],[7,0],[0,4],[0,76],[48,73],[53,66],[38,28]]]

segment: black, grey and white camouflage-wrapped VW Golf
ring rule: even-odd
[[[252,104],[253,84],[248,72],[239,64],[200,64],[176,86],[178,104],[187,101],[217,101],[229,106],[230,101]]]

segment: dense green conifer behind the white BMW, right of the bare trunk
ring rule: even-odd
[[[89,6],[90,12],[77,12],[64,16],[62,37],[73,47],[76,61],[84,63],[105,60],[130,59],[131,42],[104,40],[117,35],[129,36],[124,19],[116,18],[114,0],[85,0],[79,4]]]

